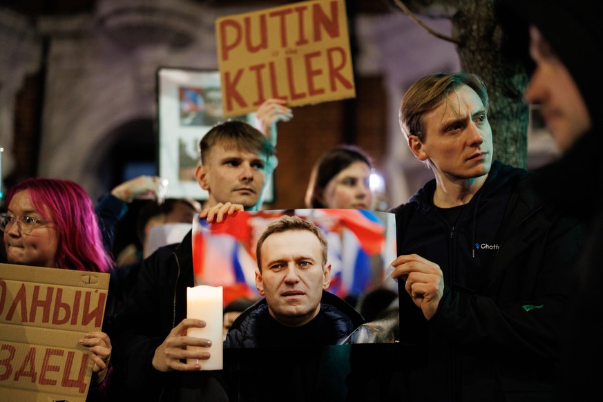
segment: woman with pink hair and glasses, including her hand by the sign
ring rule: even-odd
[[[6,260],[10,264],[109,272],[106,253],[88,193],[70,180],[30,178],[8,191],[0,215]],[[105,332],[79,340],[94,361],[87,401],[108,398],[111,341]],[[108,399],[107,399],[108,400]]]

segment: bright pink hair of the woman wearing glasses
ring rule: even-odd
[[[111,256],[103,247],[101,232],[90,196],[71,180],[29,178],[12,186],[6,204],[19,191],[28,190],[34,208],[53,222],[59,233],[59,267],[78,271],[108,272]]]

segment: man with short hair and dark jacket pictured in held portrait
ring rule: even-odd
[[[256,246],[256,288],[262,300],[243,312],[224,347],[337,345],[363,318],[325,291],[331,283],[327,240],[312,222],[283,216]]]

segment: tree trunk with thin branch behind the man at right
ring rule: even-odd
[[[493,0],[388,0],[396,8],[403,3],[426,25],[428,18],[452,21],[452,38],[458,41],[461,69],[476,73],[489,86],[490,125],[494,157],[518,167],[527,166],[528,84],[525,66],[504,57],[502,30],[495,18]],[[441,33],[441,32],[440,32]],[[444,40],[444,39],[442,39]]]

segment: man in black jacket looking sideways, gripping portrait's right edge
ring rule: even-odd
[[[419,79],[400,123],[435,176],[392,210],[403,400],[551,400],[580,222],[533,191],[533,173],[492,160],[477,75]]]

